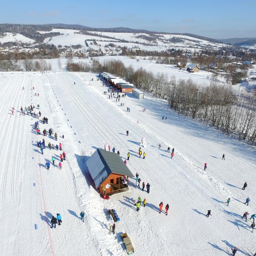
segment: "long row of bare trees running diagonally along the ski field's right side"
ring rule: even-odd
[[[122,77],[136,84],[138,89],[168,99],[170,108],[179,114],[211,125],[228,136],[256,143],[256,91],[235,94],[231,86],[222,86],[215,79],[210,86],[200,87],[191,79],[169,79],[163,73],[154,75],[143,68],[125,67],[120,60],[100,63],[93,59],[89,64],[69,59],[67,68],[80,72],[109,72]]]

